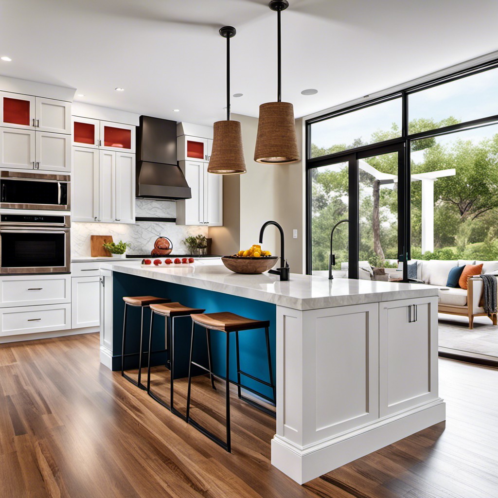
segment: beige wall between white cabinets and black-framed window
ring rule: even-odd
[[[285,257],[292,273],[303,271],[303,163],[268,166],[256,163],[257,118],[232,115],[242,125],[247,173],[225,176],[223,185],[223,227],[211,227],[213,253],[233,254],[248,249],[259,240],[264,222],[274,220],[285,233]],[[296,121],[298,145],[302,149],[302,120]],[[292,238],[296,229],[298,238]],[[275,227],[268,227],[263,249],[280,255],[280,235]]]

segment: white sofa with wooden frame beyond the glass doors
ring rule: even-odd
[[[448,313],[450,315],[460,315],[469,317],[469,329],[474,327],[474,317],[487,316],[484,308],[480,306],[483,297],[484,284],[480,277],[469,278],[469,288],[467,290],[461,288],[447,287],[448,273],[454,266],[462,266],[465,264],[481,264],[483,263],[482,273],[498,275],[498,261],[475,261],[475,260],[442,260],[430,259],[415,260],[417,261],[417,278],[428,285],[439,287],[439,305],[440,313]],[[497,325],[497,315],[490,316],[493,325]]]

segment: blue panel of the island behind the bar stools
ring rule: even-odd
[[[204,308],[206,313],[230,311],[238,315],[256,320],[269,320],[270,328],[270,350],[273,378],[275,379],[275,345],[276,345],[276,306],[264,301],[247,299],[234,294],[224,294],[187,285],[174,284],[150,278],[113,272],[113,344],[114,358],[113,370],[121,369],[121,345],[123,341],[123,296],[153,295],[167,297],[171,301],[179,301],[185,306],[192,308]],[[143,349],[148,347],[150,311],[145,310],[144,329],[145,342]],[[139,350],[140,335],[140,309],[128,308],[128,323],[126,332],[126,352]],[[161,333],[162,331],[162,333]],[[192,332],[192,321],[190,318],[175,319],[175,378],[188,375],[188,359],[190,352],[190,337]],[[152,350],[164,348],[164,318],[158,315],[154,317],[154,339]],[[213,370],[218,375],[225,376],[225,354],[226,334],[219,331],[211,331],[211,347],[213,353]],[[239,332],[241,370],[251,375],[268,381],[268,362],[266,358],[266,342],[264,329]],[[196,325],[194,343],[194,361],[201,365],[208,365],[206,347],[206,330]],[[164,365],[165,355],[156,354],[152,358],[152,365]],[[125,368],[137,367],[138,358],[129,357]],[[146,362],[146,357],[145,357]],[[145,363],[146,364],[146,363]],[[196,370],[195,374],[202,371]],[[235,350],[235,333],[230,337],[230,378],[237,380],[237,363]],[[272,396],[271,389],[249,377],[242,376],[243,384],[251,389],[265,395]]]

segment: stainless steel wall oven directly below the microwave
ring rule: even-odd
[[[0,214],[0,274],[69,273],[69,215]]]

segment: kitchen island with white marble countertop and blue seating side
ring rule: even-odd
[[[232,273],[221,261],[151,268],[103,263],[101,275],[101,362],[114,370],[124,295],[155,294],[207,313],[270,320],[277,386],[271,462],[300,484],[445,420],[436,288],[297,274],[280,282],[267,273]],[[137,336],[139,326],[130,327]],[[175,338],[175,363],[188,358],[187,324],[184,330]],[[224,351],[213,346],[217,370]],[[244,370],[261,365],[266,372],[264,343],[248,346]],[[264,386],[259,392],[267,394]]]

